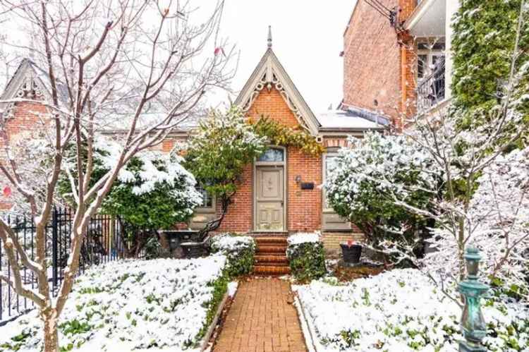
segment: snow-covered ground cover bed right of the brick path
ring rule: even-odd
[[[320,279],[293,289],[318,351],[457,351],[462,338],[461,310],[415,269],[395,269],[344,285]],[[513,303],[486,305],[490,350],[529,351],[528,310]]]

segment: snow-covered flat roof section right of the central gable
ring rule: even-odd
[[[316,114],[318,121],[322,125],[322,129],[336,128],[336,129],[359,129],[371,130],[382,129],[387,125],[387,119],[380,116],[379,121],[373,119],[366,119],[359,116],[354,111],[350,110],[328,110],[321,114]]]

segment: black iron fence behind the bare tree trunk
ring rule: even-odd
[[[32,217],[8,217],[8,224],[18,236],[20,245],[35,259],[35,224]],[[46,228],[46,258],[51,294],[56,296],[63,281],[64,269],[71,247],[73,212],[68,208],[56,208]],[[124,245],[120,221],[109,215],[98,214],[90,219],[87,236],[80,251],[80,272],[91,265],[98,265],[123,257]],[[11,263],[0,241],[0,272],[11,279]],[[37,287],[37,277],[26,268],[21,270],[23,284]],[[33,308],[34,304],[0,280],[0,324]]]

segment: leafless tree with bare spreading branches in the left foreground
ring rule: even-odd
[[[16,233],[0,220],[0,239],[12,271],[11,277],[0,274],[0,279],[36,303],[44,323],[44,350],[58,351],[58,318],[78,274],[90,217],[131,157],[158,145],[178,123],[195,116],[214,87],[227,87],[233,75],[229,66],[233,49],[226,54],[215,49],[226,46],[218,38],[222,2],[206,15],[191,1],[5,0],[0,4],[4,18],[18,21],[20,28],[32,28],[31,49],[50,93],[49,99],[37,94],[0,102],[34,107],[33,114],[42,121],[39,142],[49,150],[44,156],[47,162],[40,161],[47,168],[41,188],[31,173],[21,172],[20,165],[32,161],[14,153],[5,128],[0,131],[5,152],[1,174],[25,200],[36,228],[32,259]],[[18,40],[6,44],[24,45]],[[92,182],[95,146],[110,130],[116,145],[111,168]],[[71,172],[73,164],[78,172]],[[54,298],[44,245],[61,174],[68,177],[75,205],[71,254]],[[25,286],[23,268],[35,273],[37,289]]]

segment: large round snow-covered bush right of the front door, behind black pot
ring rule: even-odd
[[[329,204],[356,224],[370,245],[387,238],[415,243],[425,220],[395,201],[427,207],[435,194],[425,190],[432,189],[440,174],[432,159],[402,135],[365,133],[348,142],[324,184]],[[401,233],[403,224],[406,231]]]

